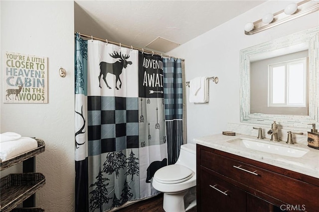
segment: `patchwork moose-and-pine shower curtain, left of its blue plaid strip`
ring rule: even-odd
[[[163,61],[75,37],[75,211],[157,195],[167,165]]]

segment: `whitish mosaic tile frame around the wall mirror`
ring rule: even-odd
[[[289,46],[308,43],[309,115],[275,115],[250,113],[250,57]],[[240,50],[240,122],[309,128],[319,124],[319,27],[307,29]]]

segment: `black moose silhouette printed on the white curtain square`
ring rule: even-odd
[[[101,62],[100,63],[100,76],[99,76],[99,87],[101,87],[101,76],[103,75],[103,80],[106,84],[106,86],[109,89],[112,89],[108,83],[106,82],[106,75],[108,73],[110,74],[114,74],[116,77],[115,80],[115,88],[117,90],[119,90],[119,88],[117,87],[117,83],[118,81],[120,81],[120,88],[122,86],[122,82],[120,79],[120,75],[122,74],[123,69],[126,69],[126,67],[128,65],[132,65],[132,61],[127,61],[127,59],[129,59],[130,55],[122,55],[122,53],[120,52],[120,54],[116,51],[114,51],[112,54],[109,54],[111,57],[113,58],[120,58],[119,61],[116,61],[115,63],[107,63],[107,62]]]

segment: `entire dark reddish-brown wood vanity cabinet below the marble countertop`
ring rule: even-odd
[[[196,146],[198,211],[318,211],[318,178]]]

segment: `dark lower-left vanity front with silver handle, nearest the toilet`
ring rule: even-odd
[[[246,212],[246,192],[206,170],[200,171],[201,212]]]

